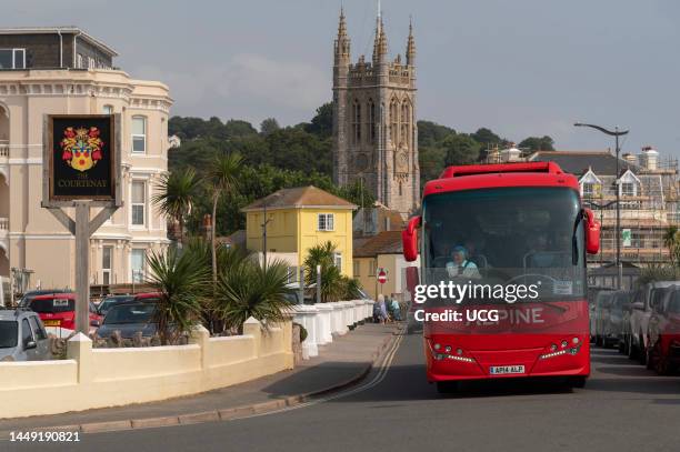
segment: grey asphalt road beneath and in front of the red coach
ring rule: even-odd
[[[424,380],[421,335],[401,337],[387,371],[341,396],[249,419],[82,435],[69,451],[678,451],[680,378],[594,349],[586,389],[494,381],[441,396]],[[7,449],[6,449],[7,448]]]

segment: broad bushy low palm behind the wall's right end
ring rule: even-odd
[[[261,321],[267,328],[270,323],[284,320],[291,307],[286,294],[290,292],[288,264],[274,260],[261,267],[252,259],[221,271],[219,275],[216,311],[227,329],[242,332],[243,322],[250,317]]]

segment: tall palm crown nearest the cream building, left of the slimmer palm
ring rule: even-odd
[[[160,211],[179,223],[179,242],[184,243],[184,218],[191,213],[200,187],[193,168],[163,174],[152,201]]]

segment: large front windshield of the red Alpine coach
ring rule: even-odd
[[[423,201],[423,279],[537,284],[540,300],[586,295],[578,192],[519,187],[446,192]],[[483,300],[484,302],[491,300]]]

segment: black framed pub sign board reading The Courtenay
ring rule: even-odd
[[[119,114],[44,118],[43,205],[120,205]]]

